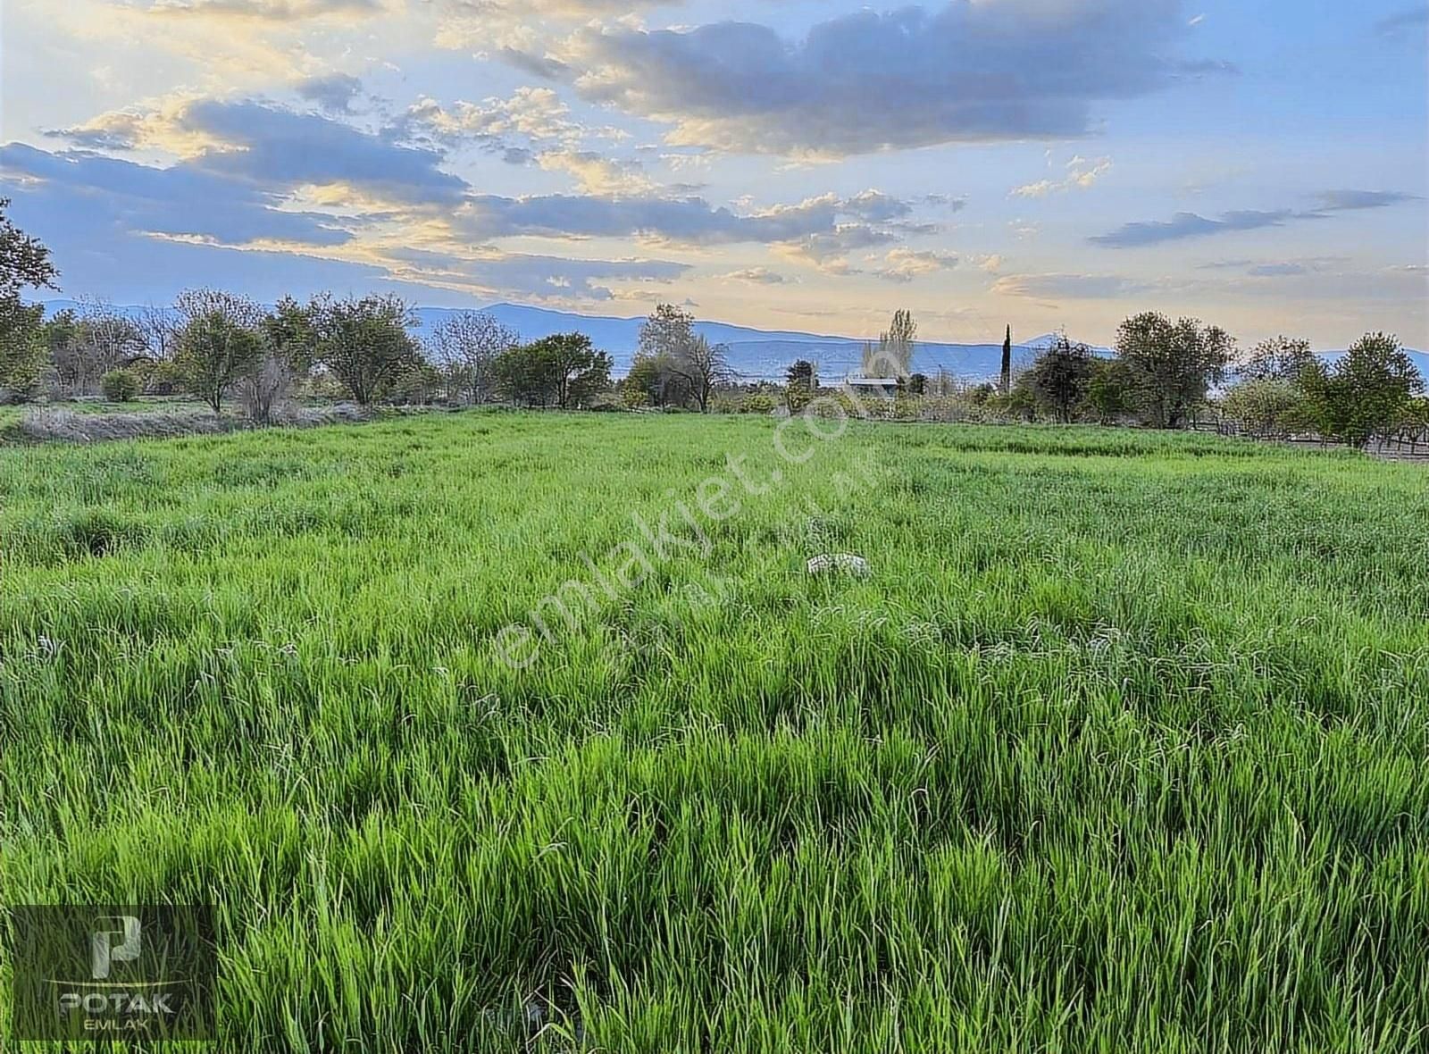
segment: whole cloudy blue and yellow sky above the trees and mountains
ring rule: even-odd
[[[63,294],[1429,348],[1429,0],[3,0]]]

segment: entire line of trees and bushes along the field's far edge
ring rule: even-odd
[[[396,296],[284,297],[266,308],[223,290],[181,293],[173,306],[137,316],[91,304],[44,317],[27,288],[56,288],[49,250],[19,230],[0,199],[0,396],[27,401],[43,391],[187,394],[214,413],[237,401],[256,421],[273,420],[304,390],[376,403],[513,403],[559,408],[730,408],[717,396],[737,390],[727,348],[696,333],[694,317],[660,304],[640,327],[629,374],[612,378],[612,357],[582,333],[534,341],[490,314],[454,311],[423,340],[412,308]],[[1179,428],[1219,410],[1255,436],[1315,433],[1365,446],[1395,431],[1429,430],[1423,378],[1393,337],[1375,333],[1335,363],[1309,341],[1276,337],[1238,361],[1236,341],[1196,318],[1132,316],[1110,357],[1057,336],[1022,371],[1012,368],[1012,330],[996,383],[967,386],[913,370],[917,321],[893,314],[863,351],[865,376],[889,378],[900,401],[967,401],[990,420],[1103,424],[1135,420]],[[737,408],[789,413],[820,391],[817,364],[789,367],[782,388],[755,386]],[[1226,387],[1229,384],[1229,387]]]

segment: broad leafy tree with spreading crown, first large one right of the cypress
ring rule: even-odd
[[[1116,354],[1127,370],[1132,401],[1147,424],[1179,428],[1189,413],[1225,378],[1235,340],[1198,318],[1172,321],[1156,311],[1133,316],[1116,336]]]

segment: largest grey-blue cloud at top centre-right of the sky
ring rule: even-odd
[[[587,27],[509,59],[587,100],[745,153],[847,156],[939,143],[1085,136],[1095,104],[1145,96],[1185,69],[1179,0],[953,0],[859,11],[787,43],[767,27]],[[554,63],[554,64],[553,64]]]

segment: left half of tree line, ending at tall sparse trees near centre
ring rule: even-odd
[[[662,304],[640,330],[634,367],[619,386],[612,357],[586,334],[523,341],[480,311],[454,311],[424,338],[396,296],[284,297],[266,308],[214,288],[181,293],[137,316],[103,304],[51,317],[27,288],[57,288],[49,250],[20,231],[0,200],[0,396],[187,394],[221,413],[240,404],[272,420],[300,388],[376,403],[526,407],[613,406],[709,410],[733,380],[726,348],[694,333],[683,308]]]

